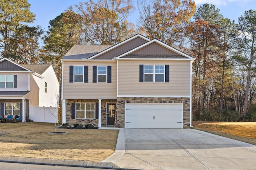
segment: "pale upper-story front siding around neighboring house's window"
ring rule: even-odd
[[[0,75],[17,75],[17,88],[0,88],[1,91],[28,91],[28,73],[1,72]]]

